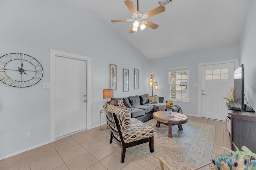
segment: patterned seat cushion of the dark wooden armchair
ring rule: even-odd
[[[130,143],[154,136],[154,129],[145,123],[131,118],[131,132],[129,137],[124,137],[124,143]]]

